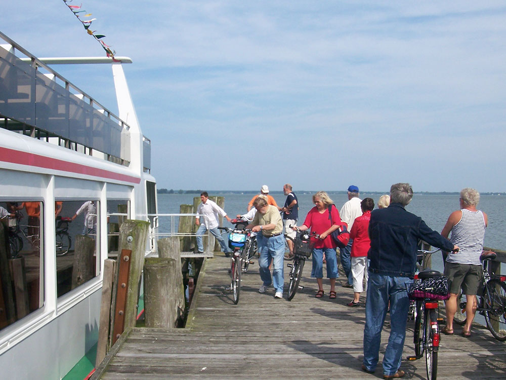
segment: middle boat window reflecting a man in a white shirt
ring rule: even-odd
[[[58,297],[100,273],[99,211],[96,200],[55,202]]]

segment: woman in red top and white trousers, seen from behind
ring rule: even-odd
[[[351,246],[351,273],[353,276],[353,300],[348,303],[349,307],[360,306],[360,293],[362,293],[362,280],[365,276],[367,284],[367,252],[371,246],[369,239],[369,221],[371,220],[371,211],[374,209],[372,198],[365,198],[360,202],[362,216],[359,216],[353,222],[350,231],[350,240],[353,239]],[[367,286],[367,285],[366,285]]]

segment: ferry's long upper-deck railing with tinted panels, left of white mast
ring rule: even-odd
[[[130,164],[129,125],[2,32],[0,119],[2,128]]]

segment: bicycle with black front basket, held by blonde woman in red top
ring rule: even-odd
[[[304,289],[304,286],[300,286],[299,284],[301,282],[306,259],[311,257],[311,253],[313,251],[314,243],[311,242],[310,238],[313,237],[318,239],[320,237],[320,235],[314,232],[310,233],[307,231],[301,231],[297,227],[294,227],[294,230],[296,231],[296,237],[294,240],[288,236],[285,237],[286,239],[293,240],[293,262],[287,264],[287,266],[291,268],[287,296],[289,301],[291,301],[295,296],[297,289]]]

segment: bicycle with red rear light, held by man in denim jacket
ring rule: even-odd
[[[436,250],[437,251],[437,250]],[[423,251],[433,253],[435,251]],[[414,356],[408,356],[408,360],[420,359],[425,354],[425,364],[427,368],[428,380],[436,380],[437,368],[438,368],[438,351],[440,343],[440,331],[439,331],[439,300],[447,299],[448,296],[442,296],[432,293],[435,289],[433,285],[429,285],[428,280],[443,278],[443,275],[438,271],[426,269],[415,275],[415,284],[421,285],[418,289],[423,289],[423,293],[414,294],[411,292],[413,287],[408,291],[411,299],[415,301],[414,311]],[[427,286],[423,286],[427,284]],[[448,285],[448,283],[446,283]],[[448,289],[449,290],[449,289]],[[418,290],[419,291],[419,290]],[[448,293],[449,294],[449,293]]]

